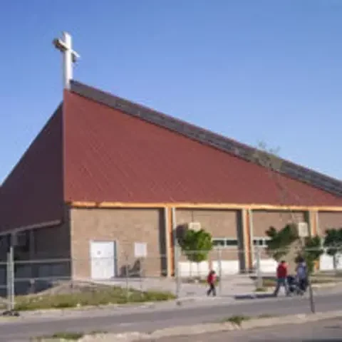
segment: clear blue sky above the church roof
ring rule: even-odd
[[[342,178],[342,1],[15,0],[0,11],[0,182],[74,78]]]

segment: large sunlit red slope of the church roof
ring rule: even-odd
[[[341,197],[76,93],[65,93],[64,110],[66,201],[342,204]]]

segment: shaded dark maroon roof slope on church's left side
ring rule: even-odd
[[[1,185],[1,230],[62,218],[62,121],[60,105]]]

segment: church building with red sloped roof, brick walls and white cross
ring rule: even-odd
[[[24,259],[55,260],[38,276],[113,279],[137,263],[144,276],[187,275],[187,259],[175,265],[187,225],[212,234],[235,274],[253,268],[270,226],[342,226],[341,181],[74,81],[71,37],[54,42],[63,98],[0,188],[2,254],[16,242]],[[214,249],[199,272],[217,262]]]

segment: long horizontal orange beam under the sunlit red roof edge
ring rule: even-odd
[[[252,210],[294,210],[294,211],[320,211],[320,212],[342,212],[342,207],[328,206],[281,206],[270,204],[230,204],[230,203],[126,203],[126,202],[68,202],[71,207],[78,208],[162,208],[177,207],[194,209],[252,209]]]

